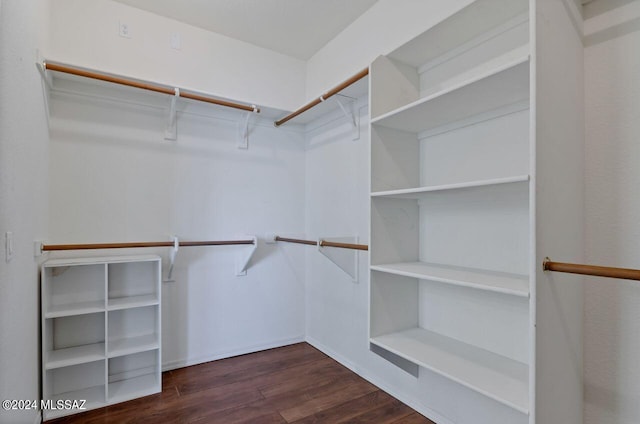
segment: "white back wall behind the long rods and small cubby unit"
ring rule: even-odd
[[[272,108],[303,99],[303,61],[109,0],[51,3],[49,59]],[[131,38],[118,35],[119,21]],[[172,32],[181,34],[179,51],[169,46]],[[169,142],[166,96],[57,83],[48,240],[304,231],[304,139],[295,127],[252,118],[249,149],[239,150],[240,112],[180,101],[178,140]],[[165,368],[303,340],[304,252],[261,242],[248,275],[237,277],[241,250],[180,250],[176,282],[163,284]],[[157,253],[166,272],[168,250]]]

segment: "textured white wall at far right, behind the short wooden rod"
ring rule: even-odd
[[[586,256],[640,268],[640,2],[591,17],[585,30]],[[586,282],[585,424],[637,423],[640,289]]]

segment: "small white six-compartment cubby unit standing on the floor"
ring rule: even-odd
[[[160,275],[148,255],[42,265],[43,399],[93,409],[161,390]]]

